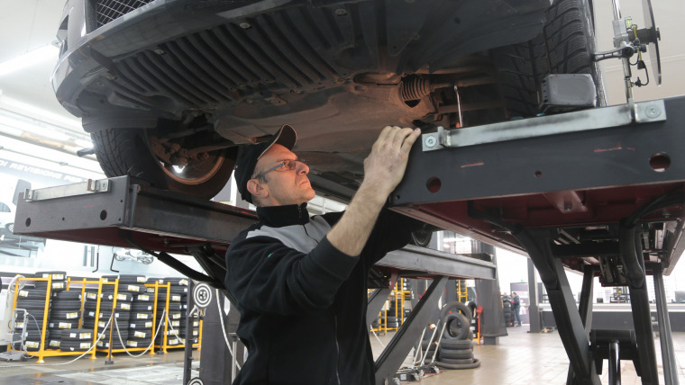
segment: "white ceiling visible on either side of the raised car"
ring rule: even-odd
[[[611,1],[594,0],[600,50],[611,49]],[[663,85],[649,85],[635,91],[635,100],[649,100],[671,95],[685,94],[685,52],[683,52],[682,26],[685,20],[683,0],[653,0],[656,24],[662,31],[662,79]],[[55,31],[62,13],[63,0],[0,0],[0,62],[14,58],[55,40]],[[644,25],[642,1],[624,0],[623,15],[632,15],[634,22]],[[42,111],[58,114],[71,121],[54,120],[69,130],[78,129],[78,120],[64,111],[57,103],[50,85],[50,73],[55,61],[48,60],[27,66],[10,75],[0,76],[0,108],[8,109],[6,101],[20,101],[39,107]],[[612,104],[624,103],[624,91],[620,62],[616,59],[602,62],[606,72],[607,94]],[[13,108],[9,108],[13,109]]]

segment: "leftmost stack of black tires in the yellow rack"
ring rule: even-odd
[[[17,334],[26,330],[26,351],[37,352],[41,349],[41,336],[45,319],[45,302],[48,301],[48,318],[50,318],[50,300],[48,297],[47,284],[42,288],[28,288],[25,286],[17,292],[15,309],[26,310],[26,321],[23,321],[23,313],[17,314],[17,322],[13,332]],[[48,330],[45,331],[45,341],[50,338]],[[14,350],[23,350],[21,343],[12,345]]]

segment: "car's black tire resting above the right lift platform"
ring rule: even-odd
[[[598,105],[606,104],[595,51],[589,0],[555,0],[547,10],[543,33],[533,40],[493,49],[498,84],[510,117],[540,111],[538,91],[550,74],[590,74]]]

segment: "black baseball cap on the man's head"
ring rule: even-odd
[[[238,159],[235,161],[233,177],[235,178],[235,183],[238,184],[238,192],[241,193],[243,200],[252,202],[252,194],[247,191],[247,182],[252,178],[254,166],[257,166],[257,161],[260,160],[260,157],[274,144],[279,144],[291,150],[295,147],[296,141],[297,132],[295,132],[295,129],[288,124],[284,124],[269,141],[243,146],[240,149]]]

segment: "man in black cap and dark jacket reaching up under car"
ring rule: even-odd
[[[238,301],[238,336],[248,358],[236,384],[374,382],[366,325],[367,275],[405,246],[420,223],[384,210],[420,130],[386,127],[364,160],[364,179],[344,213],[311,219],[309,167],[283,126],[242,148],[235,179],[259,222],[226,252],[226,288]]]

